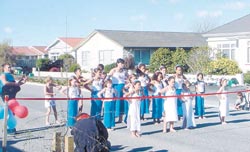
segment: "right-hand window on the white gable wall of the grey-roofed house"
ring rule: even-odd
[[[99,63],[111,64],[114,62],[113,50],[100,50],[99,51]]]

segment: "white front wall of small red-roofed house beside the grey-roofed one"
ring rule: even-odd
[[[71,54],[73,57],[75,57],[75,53],[72,53],[72,49],[73,48],[71,46],[62,41],[59,41],[48,50],[49,59],[57,60],[60,55],[66,53]]]

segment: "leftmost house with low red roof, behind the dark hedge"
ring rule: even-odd
[[[46,46],[14,46],[12,54],[16,56],[16,66],[32,68],[36,60],[48,56]]]

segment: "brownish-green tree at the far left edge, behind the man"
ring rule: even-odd
[[[4,63],[15,64],[15,55],[12,54],[12,47],[7,41],[0,43],[0,64]]]

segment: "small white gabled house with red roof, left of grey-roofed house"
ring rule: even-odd
[[[48,51],[49,59],[55,61],[62,54],[71,54],[76,57],[73,48],[77,46],[83,38],[73,38],[73,37],[60,37],[51,43],[45,50]]]

